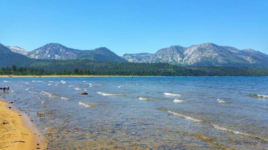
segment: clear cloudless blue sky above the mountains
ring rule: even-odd
[[[107,47],[118,55],[201,43],[268,54],[268,1],[0,0],[0,43]]]

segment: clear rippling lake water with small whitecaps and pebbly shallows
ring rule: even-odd
[[[268,147],[268,77],[1,78],[0,86],[49,149]]]

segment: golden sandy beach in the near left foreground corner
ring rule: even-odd
[[[42,135],[27,115],[1,100],[0,110],[0,149],[41,149]]]

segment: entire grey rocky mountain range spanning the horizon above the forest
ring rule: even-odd
[[[49,43],[33,51],[17,46],[0,45],[6,57],[0,59],[28,60],[70,60],[89,59],[97,62],[134,62],[134,63],[169,63],[179,66],[268,66],[268,55],[253,49],[238,50],[231,46],[218,46],[213,43],[192,45],[190,47],[170,46],[156,53],[124,54],[118,56],[111,50],[100,47],[94,50],[78,50],[67,48],[61,44]],[[3,58],[4,57],[4,58]],[[9,63],[10,65],[10,63]]]

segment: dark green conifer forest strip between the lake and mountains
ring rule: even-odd
[[[30,67],[6,66],[0,68],[0,75],[268,76],[267,68],[83,61],[34,63]]]

